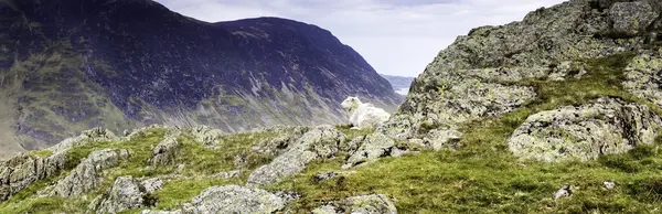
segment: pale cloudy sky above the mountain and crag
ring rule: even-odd
[[[207,22],[292,19],[331,31],[378,73],[417,76],[458,35],[563,0],[156,0]]]

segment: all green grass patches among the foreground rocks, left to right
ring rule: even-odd
[[[656,145],[641,146],[627,154],[607,156],[588,162],[563,162],[556,164],[519,160],[508,149],[506,140],[527,116],[554,109],[563,105],[580,105],[596,97],[613,96],[626,100],[645,103],[624,93],[622,81],[624,62],[631,54],[607,58],[588,60],[589,74],[581,79],[549,83],[526,79],[521,83],[537,89],[538,99],[521,109],[501,117],[485,118],[465,125],[462,147],[458,151],[426,151],[403,158],[386,158],[353,169],[354,174],[314,182],[317,173],[338,171],[342,158],[319,160],[303,173],[289,179],[273,190],[292,190],[302,197],[290,205],[299,211],[352,195],[380,193],[397,199],[401,213],[649,213],[662,212],[662,139]],[[511,83],[515,84],[515,83]],[[647,103],[650,105],[649,103]],[[656,106],[650,105],[660,113]],[[353,131],[339,127],[351,138],[370,131]],[[83,212],[96,195],[109,188],[115,178],[126,174],[156,176],[175,173],[174,165],[156,169],[147,167],[151,147],[160,141],[166,130],[149,130],[149,133],[129,142],[102,142],[76,148],[68,168],[93,149],[128,149],[131,160],[105,174],[105,183],[85,200],[56,197],[32,199],[40,189],[56,181],[40,181],[9,202],[0,204],[0,213],[53,213]],[[182,149],[178,163],[186,164],[180,173],[184,179],[167,182],[164,189],[154,193],[159,199],[157,208],[173,208],[190,201],[202,190],[228,183],[244,183],[248,172],[231,180],[210,179],[209,175],[233,169],[237,154],[248,157],[248,170],[270,161],[249,152],[259,141],[275,133],[235,133],[224,138],[220,151],[209,150],[193,142],[189,136],[180,138]],[[45,156],[35,152],[33,156]],[[64,176],[66,174],[63,173]],[[617,188],[608,190],[602,182],[613,181]],[[552,193],[562,185],[576,186],[575,195],[557,201]],[[658,208],[658,210],[655,210]],[[127,211],[138,213],[139,211]]]

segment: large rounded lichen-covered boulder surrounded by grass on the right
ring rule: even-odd
[[[509,139],[517,157],[555,162],[591,160],[653,143],[662,120],[648,106],[600,98],[530,116]]]

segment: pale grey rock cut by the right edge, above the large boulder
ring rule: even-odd
[[[623,87],[633,95],[662,107],[662,57],[644,53],[632,58],[626,67]]]

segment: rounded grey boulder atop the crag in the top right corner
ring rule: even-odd
[[[645,31],[658,17],[659,13],[647,1],[616,2],[609,9],[613,31],[627,35]]]

